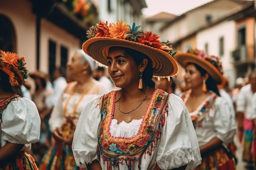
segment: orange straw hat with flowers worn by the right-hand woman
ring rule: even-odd
[[[216,84],[222,83],[222,65],[220,59],[213,55],[208,55],[204,51],[198,49],[189,49],[186,53],[178,52],[175,55],[177,62],[186,67],[188,63],[197,64],[202,67],[213,78]]]

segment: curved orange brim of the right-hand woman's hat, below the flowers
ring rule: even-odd
[[[175,55],[177,62],[182,66],[186,67],[188,63],[197,64],[198,66],[202,67],[207,73],[213,78],[216,84],[222,83],[222,74],[218,69],[213,66],[210,62],[199,58],[197,55],[193,53],[177,53]]]

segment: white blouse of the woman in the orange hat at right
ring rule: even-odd
[[[236,119],[224,98],[216,98],[213,107],[205,114],[201,126],[195,127],[195,133],[199,146],[207,144],[214,137],[218,137],[225,144],[233,140],[236,133]]]

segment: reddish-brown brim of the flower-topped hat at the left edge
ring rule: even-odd
[[[7,62],[2,62],[0,61],[0,69],[2,71],[4,71],[4,69],[7,69],[9,71],[11,71],[12,73],[14,73],[14,79],[18,82],[19,86],[21,86],[24,83],[24,78],[23,75],[20,73],[20,71],[18,71],[17,68],[15,68],[13,65],[7,63]],[[6,73],[4,71],[4,73]],[[6,73],[9,75],[9,73]],[[11,77],[11,75],[9,75],[9,77]],[[9,78],[10,79],[10,78]],[[10,82],[11,83],[11,82]],[[11,83],[11,86],[16,86],[14,84]]]

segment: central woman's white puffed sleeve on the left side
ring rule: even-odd
[[[99,109],[99,98],[97,95],[88,102],[83,109],[76,126],[72,150],[76,165],[86,167],[97,159],[97,145],[99,128],[101,124],[101,114]]]

